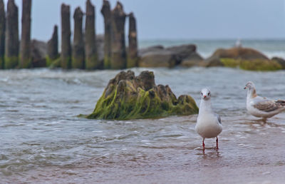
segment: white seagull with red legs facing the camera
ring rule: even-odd
[[[205,138],[216,138],[217,150],[219,149],[218,135],[222,132],[222,122],[219,115],[212,110],[211,92],[207,88],[201,91],[201,103],[195,130],[203,138],[203,152]]]

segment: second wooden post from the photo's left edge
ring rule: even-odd
[[[19,63],[19,24],[18,6],[14,0],[7,4],[6,41],[5,41],[5,68],[16,68]]]

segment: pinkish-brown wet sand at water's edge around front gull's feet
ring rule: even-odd
[[[167,121],[191,120],[196,116],[170,117]],[[199,136],[181,138],[177,145],[142,145],[133,154],[108,155],[81,160],[77,165],[45,167],[25,173],[24,180],[6,182],[32,183],[284,183],[285,113],[266,123],[247,116],[225,118],[224,131],[215,140],[207,139],[203,153]],[[235,123],[242,121],[235,126]],[[179,125],[180,123],[178,123]],[[238,128],[237,128],[238,127]],[[56,180],[55,180],[56,178]],[[22,178],[23,179],[23,178]],[[3,181],[3,180],[2,180]]]

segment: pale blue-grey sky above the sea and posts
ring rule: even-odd
[[[5,2],[8,0],[4,0]],[[96,32],[103,34],[103,0],[96,7]],[[15,0],[21,17],[21,0]],[[85,11],[86,0],[33,0],[32,39],[47,41],[53,26],[60,26],[61,3]],[[138,39],[285,39],[285,0],[121,0],[133,11]],[[116,0],[110,0],[111,8]],[[73,29],[73,21],[71,28]],[[128,21],[126,21],[126,35]],[[19,19],[21,24],[21,19]],[[21,25],[19,26],[21,28]],[[59,28],[59,31],[61,29]],[[21,30],[20,30],[21,31]],[[59,33],[60,34],[60,33]]]

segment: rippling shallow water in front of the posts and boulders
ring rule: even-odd
[[[134,68],[138,75],[143,68]],[[93,111],[118,71],[0,71],[1,183],[282,183],[285,113],[266,123],[247,114],[247,81],[257,93],[285,98],[285,71],[232,68],[149,69],[177,95],[212,91],[224,130],[195,133],[194,116],[105,121],[77,118]]]

